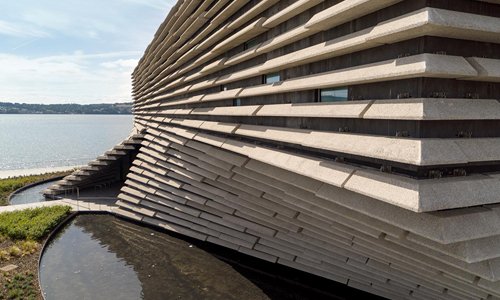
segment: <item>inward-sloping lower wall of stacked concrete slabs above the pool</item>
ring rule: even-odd
[[[146,131],[117,213],[391,299],[500,296],[498,205],[411,212],[178,133]]]

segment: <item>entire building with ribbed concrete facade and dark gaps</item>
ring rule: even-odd
[[[389,299],[500,299],[500,1],[180,0],[132,80],[128,145],[47,193],[120,169],[123,216]]]

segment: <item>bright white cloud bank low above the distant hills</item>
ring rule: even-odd
[[[93,65],[116,53],[28,59],[0,53],[0,102],[101,103],[131,101],[130,73],[136,59],[119,59],[113,69]],[[64,60],[63,58],[67,58]],[[78,58],[78,59],[75,59]]]

